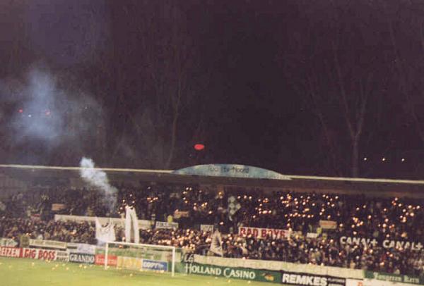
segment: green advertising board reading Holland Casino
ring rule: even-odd
[[[209,275],[228,279],[243,279],[262,282],[281,282],[278,271],[264,271],[251,268],[233,268],[199,263],[182,263],[179,270],[186,274]]]

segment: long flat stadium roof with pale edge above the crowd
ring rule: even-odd
[[[22,181],[79,179],[79,167],[0,165],[0,172]],[[298,192],[337,192],[370,196],[408,196],[424,198],[424,180],[334,178],[284,175],[286,180],[184,175],[174,170],[99,168],[112,182],[157,182],[187,185],[223,185],[252,189],[291,189]]]

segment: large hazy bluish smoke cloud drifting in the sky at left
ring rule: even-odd
[[[76,75],[42,63],[20,76],[0,78],[0,134],[12,149],[1,161],[75,164],[96,150],[104,108],[84,89]]]

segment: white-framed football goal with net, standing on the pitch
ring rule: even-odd
[[[106,242],[105,269],[170,272],[175,275],[175,247],[129,242]]]

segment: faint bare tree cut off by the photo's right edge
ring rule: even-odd
[[[424,9],[411,3],[380,4],[386,16],[393,52],[391,67],[402,107],[424,142]]]

